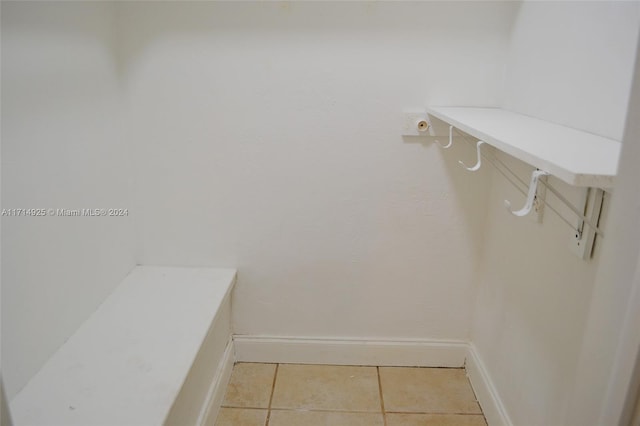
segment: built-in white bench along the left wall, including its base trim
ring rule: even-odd
[[[15,426],[215,421],[233,269],[136,267],[11,401]]]

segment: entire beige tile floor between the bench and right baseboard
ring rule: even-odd
[[[237,363],[216,426],[486,426],[461,368]]]

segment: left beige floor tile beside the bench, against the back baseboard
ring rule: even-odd
[[[276,364],[237,363],[222,405],[269,408],[275,373]]]

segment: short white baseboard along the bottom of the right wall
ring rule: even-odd
[[[491,376],[473,343],[468,344],[467,376],[489,426],[513,426]]]

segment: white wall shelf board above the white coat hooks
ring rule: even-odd
[[[430,107],[427,113],[570,185],[613,187],[616,140],[499,108]]]

